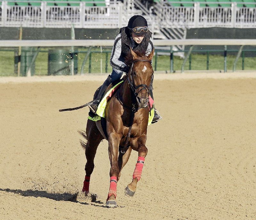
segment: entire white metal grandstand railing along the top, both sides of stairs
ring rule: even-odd
[[[128,19],[126,18],[128,15],[123,13],[123,3],[116,1],[111,1],[105,6],[88,6],[85,2],[72,2],[77,6],[58,6],[54,5],[54,1],[33,1],[39,5],[19,5],[24,3],[19,0],[0,1],[0,3],[0,27],[22,25],[22,27],[59,28],[70,27],[72,23],[75,28],[120,28],[124,20]],[[191,4],[191,2],[187,3]],[[238,7],[241,5],[236,2],[230,4],[225,2],[223,7],[216,6],[216,2],[207,2],[210,7],[205,4],[206,2],[195,2],[191,7],[163,4],[161,14],[157,13],[155,16],[163,22],[165,28],[184,28],[184,25],[186,28],[256,28],[255,3],[243,3],[252,7]],[[218,4],[222,3],[218,2]]]

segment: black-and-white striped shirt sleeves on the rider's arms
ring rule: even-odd
[[[122,52],[122,39],[121,39],[121,34],[116,36],[114,46],[111,51],[111,57],[110,57],[110,65],[116,69],[120,70],[120,67],[124,65],[123,62],[120,62],[120,57],[121,57],[121,52]],[[153,42],[150,37],[150,42],[148,43],[148,48],[146,50],[146,56],[150,54],[150,52],[153,50]],[[122,59],[123,60],[123,59]]]

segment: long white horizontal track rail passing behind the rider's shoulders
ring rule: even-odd
[[[114,40],[0,40],[0,47],[113,46]],[[173,45],[253,45],[256,39],[154,40],[155,46]]]

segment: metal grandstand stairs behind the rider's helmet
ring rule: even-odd
[[[153,33],[153,39],[186,39],[187,29],[183,24],[173,28],[168,23],[165,16],[163,16],[163,3],[159,4],[156,3],[154,6],[151,6],[149,9],[145,7],[145,5],[141,4],[140,1],[135,0],[124,0],[124,7],[123,7],[123,19],[122,24],[123,26],[127,25],[127,20],[135,14],[141,14],[145,17],[148,21],[148,26],[151,32]],[[169,6],[169,5],[167,5]],[[160,13],[161,11],[161,13]],[[170,46],[165,47],[156,47],[159,50],[166,50],[170,51]],[[184,50],[183,45],[177,45],[172,47],[173,51],[182,51]],[[162,52],[165,54],[164,52]],[[169,52],[170,54],[170,52]],[[175,55],[184,57],[184,52],[175,53]]]

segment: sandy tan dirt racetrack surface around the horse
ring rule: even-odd
[[[255,220],[256,78],[229,75],[155,76],[163,120],[148,127],[148,155],[133,198],[124,189],[137,152],[124,167],[117,208],[104,207],[105,140],[92,196],[81,193],[85,156],[77,130],[85,130],[88,108],[58,111],[90,101],[106,76],[0,78],[0,219]]]

